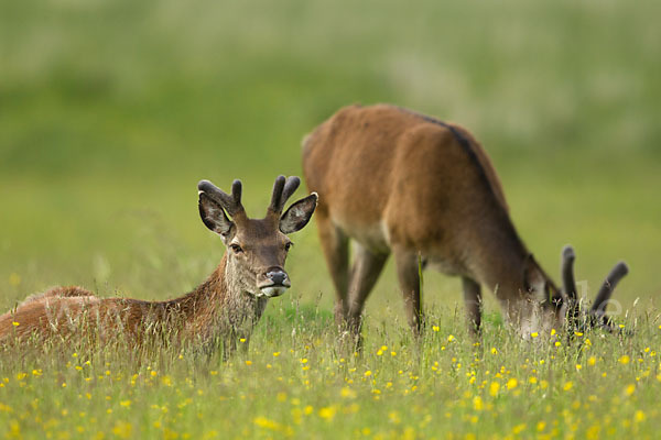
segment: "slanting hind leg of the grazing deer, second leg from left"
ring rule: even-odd
[[[379,279],[388,255],[387,253],[373,253],[364,245],[356,243],[349,284],[348,312],[349,329],[355,336],[360,334],[365,301],[375,287],[377,279]]]

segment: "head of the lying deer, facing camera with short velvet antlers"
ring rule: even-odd
[[[220,235],[228,250],[226,277],[241,292],[254,297],[275,297],[291,286],[284,261],[293,243],[286,235],[307,224],[317,202],[317,195],[313,193],[282,213],[300,184],[299,177],[279,176],[263,219],[250,219],[246,215],[240,180],[231,185],[231,195],[208,180],[197,185],[202,221]]]

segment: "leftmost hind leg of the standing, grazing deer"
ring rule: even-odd
[[[335,321],[338,326],[346,322],[348,312],[349,284],[349,239],[322,211],[317,212],[317,229],[326,264],[335,286]]]

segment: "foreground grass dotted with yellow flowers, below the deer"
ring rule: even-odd
[[[489,321],[475,342],[456,312],[432,310],[420,345],[403,322],[370,320],[361,355],[330,322],[283,299],[227,363],[166,348],[3,362],[1,426],[10,438],[651,438],[661,416],[658,322],[522,344]]]

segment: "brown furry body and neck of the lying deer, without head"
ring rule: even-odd
[[[225,256],[220,266],[193,292],[167,301],[98,298],[80,287],[53,288],[0,316],[0,341],[20,342],[32,337],[71,340],[93,331],[101,342],[121,334],[126,342],[142,344],[150,338],[171,333],[177,341],[206,346],[230,334],[247,337],[267,298],[231,293],[225,275],[226,261]],[[235,343],[229,338],[224,342]]]

